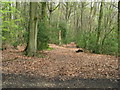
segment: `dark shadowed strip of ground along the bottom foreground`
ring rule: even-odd
[[[62,81],[59,77],[29,77],[25,75],[2,74],[3,88],[118,88],[117,80],[83,79],[74,77]]]

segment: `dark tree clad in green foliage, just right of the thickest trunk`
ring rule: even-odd
[[[47,30],[47,11],[46,2],[41,2],[41,18],[38,23],[38,50],[43,50],[48,48],[48,30]]]

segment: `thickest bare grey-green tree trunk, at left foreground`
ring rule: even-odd
[[[30,2],[29,41],[27,55],[34,56],[37,51],[37,2]]]

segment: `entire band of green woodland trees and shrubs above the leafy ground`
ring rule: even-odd
[[[117,55],[117,2],[0,2],[2,45],[26,46],[28,56],[75,42],[89,52]]]

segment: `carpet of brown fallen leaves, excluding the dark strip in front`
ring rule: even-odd
[[[3,72],[28,76],[59,77],[67,80],[80,78],[118,78],[118,60],[114,56],[75,53],[77,48],[49,44],[53,50],[43,51],[44,58],[24,56],[20,50],[3,51]]]

